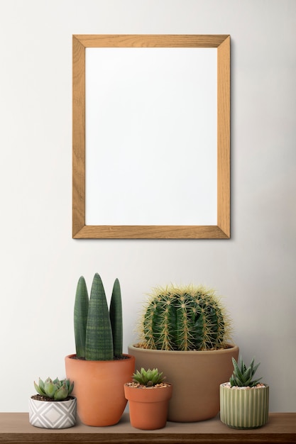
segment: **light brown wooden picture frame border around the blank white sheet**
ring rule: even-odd
[[[230,36],[73,35],[72,238],[230,238]],[[216,48],[216,224],[86,225],[86,48]]]

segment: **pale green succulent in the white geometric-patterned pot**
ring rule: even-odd
[[[70,382],[70,379],[45,379],[43,382],[39,378],[39,384],[34,381],[34,387],[38,394],[48,399],[54,399],[55,401],[62,401],[66,399],[72,393],[74,382]]]

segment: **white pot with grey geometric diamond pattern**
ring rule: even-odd
[[[68,428],[76,423],[75,396],[67,401],[40,401],[29,399],[29,421],[42,428]]]

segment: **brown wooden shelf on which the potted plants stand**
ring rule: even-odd
[[[27,413],[0,413],[0,444],[235,444],[296,443],[296,413],[270,413],[268,423],[254,430],[234,430],[221,423],[219,416],[198,423],[168,422],[156,431],[140,431],[131,427],[128,414],[116,426],[52,430],[31,426]]]

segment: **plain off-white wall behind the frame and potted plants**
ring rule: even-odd
[[[216,288],[270,411],[296,411],[295,17],[293,0],[0,0],[0,411],[65,376],[94,272],[121,282],[125,351],[152,287]],[[72,240],[75,33],[231,35],[231,240]]]

